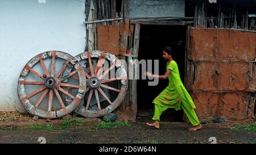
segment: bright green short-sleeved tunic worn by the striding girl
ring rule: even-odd
[[[187,107],[195,109],[195,104],[180,79],[177,63],[174,60],[167,62],[167,69],[171,70],[168,76],[169,85],[154,99],[153,103],[175,108],[175,110],[181,110],[181,104],[186,104]]]

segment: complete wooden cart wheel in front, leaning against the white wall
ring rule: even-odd
[[[30,114],[46,119],[60,118],[75,110],[85,89],[82,66],[74,57],[60,51],[33,57],[20,73],[18,83],[23,107]],[[63,94],[68,95],[68,102]]]

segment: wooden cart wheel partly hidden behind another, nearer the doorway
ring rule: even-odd
[[[127,93],[127,73],[122,62],[104,51],[84,52],[75,58],[83,66],[88,79],[84,102],[76,112],[90,118],[115,110]]]

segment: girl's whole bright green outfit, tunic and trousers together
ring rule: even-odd
[[[168,108],[175,108],[175,110],[183,109],[189,122],[194,126],[199,125],[200,121],[194,110],[196,106],[180,79],[177,63],[174,60],[167,62],[166,70],[167,69],[171,70],[168,76],[169,84],[166,89],[153,100],[155,113],[152,119],[159,121],[160,115]]]

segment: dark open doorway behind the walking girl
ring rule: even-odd
[[[159,60],[159,74],[166,72],[166,63],[162,57],[164,47],[171,46],[175,53],[175,61],[179,66],[180,77],[184,83],[185,76],[185,41],[187,26],[141,25],[138,60]],[[154,71],[153,71],[154,73]],[[168,79],[159,79],[157,86],[148,86],[148,80],[139,79],[137,83],[138,116],[147,111],[154,114],[152,101],[168,85]],[[146,92],[145,92],[146,91]],[[143,92],[143,93],[142,93]],[[161,121],[183,122],[183,110],[169,108],[163,113]]]

